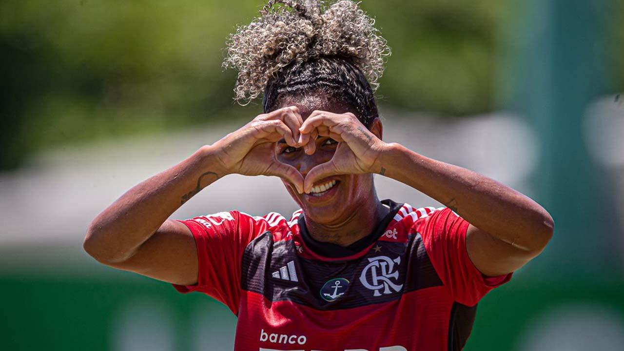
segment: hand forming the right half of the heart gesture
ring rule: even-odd
[[[314,182],[336,174],[379,173],[376,163],[386,147],[373,132],[362,124],[351,112],[334,114],[314,111],[303,122],[298,144],[304,146],[306,154],[316,150],[315,135],[334,139],[339,144],[334,156],[328,162],[319,164],[306,174],[303,189],[310,192]]]

